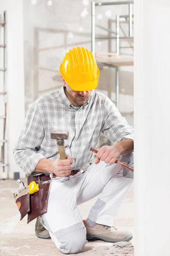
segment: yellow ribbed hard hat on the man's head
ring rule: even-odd
[[[59,71],[72,90],[93,90],[99,81],[99,68],[92,52],[83,47],[66,53]]]

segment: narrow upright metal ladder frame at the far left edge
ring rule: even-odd
[[[6,167],[8,164],[5,159],[5,145],[6,140],[6,102],[7,102],[7,93],[6,93],[6,12],[3,12],[3,20],[0,21],[0,35],[2,36],[3,44],[0,44],[0,48],[3,48],[3,67],[0,67],[0,72],[3,73],[3,87],[0,91],[0,101],[4,102],[4,113],[0,113],[0,119],[3,119],[3,138],[0,138],[1,146],[1,156],[0,156],[0,167],[3,168],[3,178],[8,177],[8,172],[6,172]],[[0,38],[1,39],[1,38]],[[0,41],[1,42],[1,41]],[[6,174],[6,175],[5,175]]]

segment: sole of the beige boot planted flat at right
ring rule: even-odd
[[[88,241],[101,240],[101,241],[108,242],[108,243],[116,243],[116,242],[122,242],[122,241],[129,242],[132,238],[133,238],[132,234],[129,236],[125,236],[123,239],[111,239],[111,238],[108,238],[105,236],[87,234]]]

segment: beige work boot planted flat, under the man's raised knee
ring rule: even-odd
[[[96,224],[94,227],[88,227],[85,224],[85,228],[87,231],[87,240],[88,241],[95,241],[95,240],[102,240],[105,242],[121,242],[121,241],[130,241],[133,238],[132,233],[128,232],[127,230],[116,230],[114,227],[108,227],[100,224]]]

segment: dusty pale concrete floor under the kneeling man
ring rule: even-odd
[[[23,180],[26,184],[26,180]],[[0,180],[0,255],[1,256],[58,256],[61,253],[50,240],[38,239],[34,233],[35,220],[26,223],[25,217],[20,221],[20,213],[14,202],[13,193],[17,192],[16,180]],[[82,219],[87,218],[88,212],[96,198],[79,206]],[[133,186],[123,202],[113,226],[126,228],[133,232]],[[131,241],[133,243],[133,240]],[[78,255],[99,256],[133,256],[133,248],[119,248],[111,243],[102,241],[88,242],[85,249]],[[73,255],[73,254],[72,254]]]

